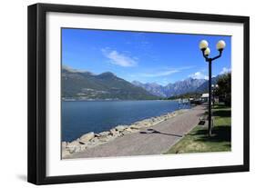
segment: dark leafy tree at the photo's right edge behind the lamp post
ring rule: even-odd
[[[219,85],[217,94],[220,101],[223,101],[226,105],[231,104],[231,74],[222,74],[217,82]]]

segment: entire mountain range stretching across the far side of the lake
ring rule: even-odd
[[[216,84],[217,77],[212,78]],[[62,97],[77,100],[151,100],[179,94],[207,93],[208,80],[188,78],[165,86],[156,83],[129,83],[117,75],[105,72],[92,74],[62,67]]]

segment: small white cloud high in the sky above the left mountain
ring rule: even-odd
[[[101,51],[106,57],[108,57],[108,59],[110,59],[111,64],[117,64],[123,67],[136,66],[138,64],[137,58],[118,53],[116,50],[109,50],[109,48],[105,48]]]

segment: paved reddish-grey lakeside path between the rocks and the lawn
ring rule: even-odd
[[[113,141],[87,149],[85,152],[73,153],[68,158],[92,158],[109,156],[131,156],[160,154],[179,141],[199,123],[205,106],[198,105],[184,114],[169,120],[141,129],[140,132],[118,137]]]

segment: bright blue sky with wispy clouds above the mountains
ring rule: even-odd
[[[230,36],[178,35],[88,29],[62,29],[62,64],[94,74],[112,72],[125,80],[166,85],[189,77],[207,78],[208,63],[199,49],[207,40],[210,56],[226,42],[212,74],[230,71]]]

